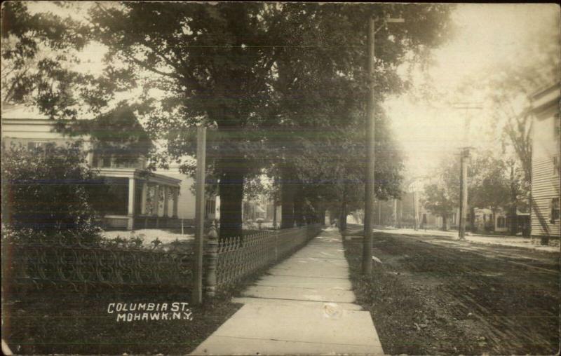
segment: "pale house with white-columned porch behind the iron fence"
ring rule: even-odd
[[[97,168],[109,185],[113,199],[104,208],[103,223],[109,228],[137,229],[189,225],[194,219],[192,179],[176,169],[145,174],[147,158],[119,162],[109,154],[98,154],[89,137],[68,137],[53,130],[53,121],[22,107],[3,107],[1,114],[2,145],[22,144],[29,149],[48,145],[62,146],[83,140],[88,151],[87,163]],[[216,198],[207,204],[208,217],[216,217]],[[187,221],[185,221],[187,220]]]

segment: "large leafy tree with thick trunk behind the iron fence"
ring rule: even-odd
[[[395,16],[406,21],[391,36],[382,31],[377,39],[375,79],[382,100],[405,88],[398,64],[406,57],[424,57],[442,42],[450,12],[450,6],[434,4],[89,6],[82,25],[67,22],[65,36],[35,37],[34,32],[50,34],[40,26],[8,32],[19,34],[25,43],[54,48],[57,55],[57,46],[79,50],[88,41],[102,43],[108,48],[104,71],[85,76],[49,59],[41,62],[40,76],[32,80],[25,73],[20,76],[20,83],[27,83],[20,85],[22,92],[32,93],[41,111],[60,119],[76,118],[81,111],[102,114],[114,93],[140,86],[143,92],[137,100],[149,108],[144,111],[147,127],[168,139],[172,158],[193,155],[189,128],[208,125],[213,129],[208,140],[210,168],[222,198],[222,235],[241,233],[243,182],[248,174],[273,162],[295,172],[290,173],[297,176],[294,182],[306,179],[301,168],[309,161],[292,157],[317,155],[323,144],[323,137],[306,137],[306,129],[337,128],[331,134],[334,144],[345,142],[347,118],[364,111],[367,95],[368,18]],[[25,5],[19,10],[25,12]],[[49,19],[56,26],[66,22],[53,15]],[[41,22],[41,17],[37,20]],[[67,36],[80,41],[73,43]],[[341,140],[334,137],[338,134]],[[275,135],[287,139],[283,146],[276,144]]]

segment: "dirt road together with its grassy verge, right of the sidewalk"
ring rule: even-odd
[[[360,245],[346,245],[355,272]],[[393,233],[375,233],[372,253],[382,264],[357,292],[386,352],[558,352],[560,254]]]

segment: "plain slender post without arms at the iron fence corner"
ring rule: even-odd
[[[195,259],[192,302],[203,302],[203,244],[205,233],[206,128],[197,127],[197,169],[195,196]]]

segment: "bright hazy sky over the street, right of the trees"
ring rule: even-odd
[[[448,152],[461,146],[496,144],[498,130],[484,135],[489,112],[482,93],[462,97],[458,87],[470,83],[488,69],[498,69],[528,57],[528,43],[543,31],[556,31],[551,19],[559,17],[554,4],[459,4],[452,13],[455,36],[433,51],[435,65],[428,70],[437,93],[419,102],[410,95],[391,97],[384,103],[391,127],[407,156],[410,176],[430,174]],[[417,77],[423,74],[417,72]],[[422,81],[416,83],[417,86]],[[455,109],[454,103],[468,102],[482,109]],[[470,121],[464,139],[466,118]]]

